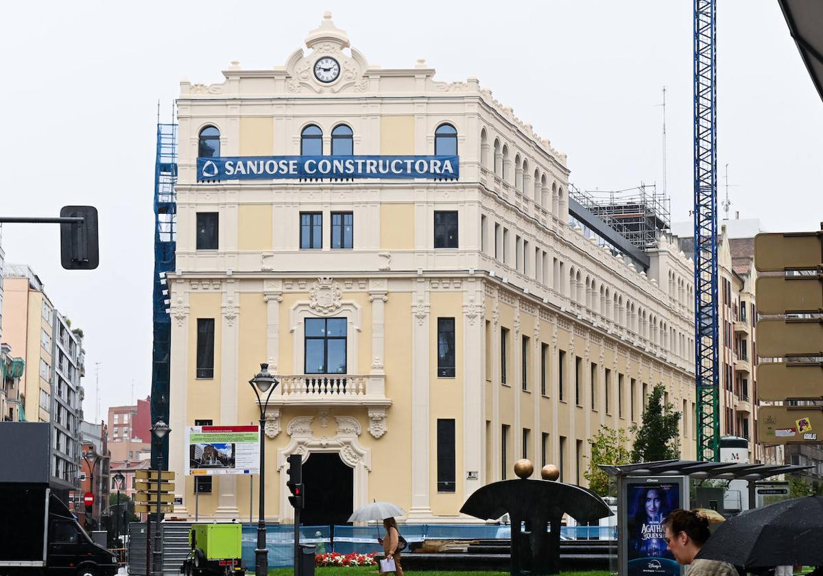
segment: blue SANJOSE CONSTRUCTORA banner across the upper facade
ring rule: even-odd
[[[459,156],[220,156],[198,158],[198,180],[457,179]]]

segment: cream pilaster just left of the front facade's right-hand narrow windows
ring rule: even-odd
[[[412,509],[409,520],[431,517],[429,412],[429,290],[418,278],[412,290]]]

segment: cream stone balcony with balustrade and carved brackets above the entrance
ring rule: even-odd
[[[385,434],[386,410],[392,405],[386,397],[385,374],[290,374],[277,379],[280,384],[268,402],[269,438],[281,431],[281,406],[314,406],[321,409],[321,415],[326,407],[362,406],[369,415],[370,434],[374,438]]]

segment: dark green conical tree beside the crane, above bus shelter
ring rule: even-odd
[[[632,445],[632,462],[656,462],[680,458],[680,412],[671,402],[663,406],[663,383],[655,384],[643,411],[640,426],[632,426],[635,444]]]

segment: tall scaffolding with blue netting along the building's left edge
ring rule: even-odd
[[[151,421],[169,421],[169,379],[171,352],[171,318],[169,286],[166,272],[174,271],[174,249],[177,237],[177,203],[174,184],[177,183],[177,124],[157,123],[155,156],[155,266],[152,298],[153,345],[151,349]],[[169,462],[168,437],[158,446],[151,443],[151,467],[157,466],[157,456],[163,451],[163,462]],[[155,468],[156,469],[156,468]]]

